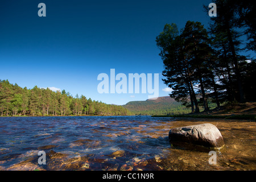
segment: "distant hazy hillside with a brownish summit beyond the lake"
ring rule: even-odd
[[[123,107],[136,115],[185,114],[190,111],[169,96],[158,97],[156,100],[131,101]]]

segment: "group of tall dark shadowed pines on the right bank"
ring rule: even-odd
[[[217,17],[209,30],[200,22],[188,21],[179,31],[166,24],[156,38],[164,63],[163,79],[176,101],[192,113],[209,110],[209,101],[256,101],[256,63],[246,57],[255,51],[256,16],[253,1],[215,0]],[[208,6],[205,6],[208,13]],[[246,36],[241,38],[241,36]]]

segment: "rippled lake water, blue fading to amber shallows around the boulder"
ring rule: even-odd
[[[174,146],[174,127],[212,123],[225,147],[210,165],[207,151]],[[221,119],[0,117],[0,170],[255,170],[256,125]],[[46,165],[39,165],[39,151]]]

